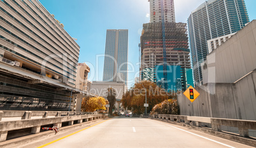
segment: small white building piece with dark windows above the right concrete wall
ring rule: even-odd
[[[211,53],[211,51],[215,50],[216,48],[218,48],[218,46],[220,46],[221,44],[223,44],[225,41],[227,41],[230,37],[232,37],[234,34],[236,34],[236,32],[232,33],[232,34],[227,34],[225,36],[221,36],[221,37],[217,37],[215,39],[210,39],[207,41],[208,43],[208,50],[209,53]]]

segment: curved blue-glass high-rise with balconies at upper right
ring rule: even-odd
[[[188,18],[188,39],[196,85],[202,84],[201,63],[208,55],[207,41],[238,32],[249,22],[245,0],[209,0]]]

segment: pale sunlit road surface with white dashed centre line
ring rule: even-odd
[[[118,117],[66,135],[43,147],[249,147],[152,119]]]

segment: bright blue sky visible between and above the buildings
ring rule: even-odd
[[[129,87],[139,71],[141,29],[150,18],[148,0],[39,0],[46,10],[64,24],[80,45],[79,62],[90,68],[90,80],[103,79],[104,50],[107,29],[129,29]],[[174,0],[176,22],[186,22],[190,12],[205,0]],[[256,1],[245,0],[250,20],[256,19]],[[97,57],[99,60],[97,60]],[[98,61],[98,62],[96,62]]]

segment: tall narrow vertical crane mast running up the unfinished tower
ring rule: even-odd
[[[166,27],[164,24],[164,0],[161,1],[161,15],[162,15],[162,52],[164,55],[164,65],[163,65],[163,72],[164,72],[164,89],[167,90],[168,83],[167,83],[167,64],[166,64]]]

